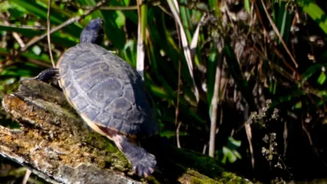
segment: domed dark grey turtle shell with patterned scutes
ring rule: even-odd
[[[93,43],[80,43],[60,58],[60,85],[86,121],[101,129],[125,135],[148,136],[157,132],[152,102],[142,77],[126,61]]]

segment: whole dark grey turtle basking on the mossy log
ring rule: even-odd
[[[103,48],[103,39],[103,20],[91,19],[80,42],[34,79],[57,81],[84,122],[113,141],[138,176],[148,177],[156,168],[156,157],[138,143],[158,131],[152,98],[141,75]]]

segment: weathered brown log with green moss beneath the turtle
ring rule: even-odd
[[[158,168],[144,179],[133,173],[114,144],[91,130],[57,88],[21,82],[2,101],[20,128],[0,126],[0,154],[50,183],[251,183],[224,171],[214,159],[190,150],[155,144]]]

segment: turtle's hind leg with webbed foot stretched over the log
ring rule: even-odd
[[[147,177],[153,173],[157,164],[154,155],[150,154],[145,149],[132,144],[124,135],[116,134],[113,137],[113,141],[131,162],[132,167],[138,176]]]

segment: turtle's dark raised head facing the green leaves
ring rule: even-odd
[[[80,43],[95,43],[101,45],[103,36],[103,20],[101,18],[95,18],[90,20],[88,25],[83,29],[80,36]]]

